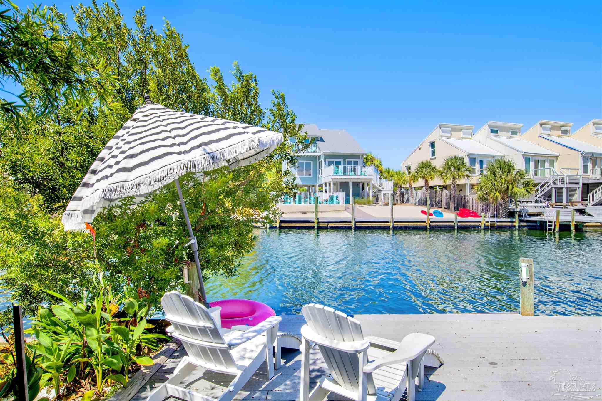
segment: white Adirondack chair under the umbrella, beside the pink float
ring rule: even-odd
[[[232,400],[265,360],[268,376],[273,378],[273,344],[281,317],[272,316],[246,331],[236,331],[220,328],[212,316],[214,308],[209,311],[179,292],[166,293],[161,298],[161,305],[166,319],[172,323],[167,332],[182,341],[188,355],[182,358],[173,376],[147,401],[163,401],[170,396],[190,401]],[[219,399],[178,387],[197,367],[236,377]]]

